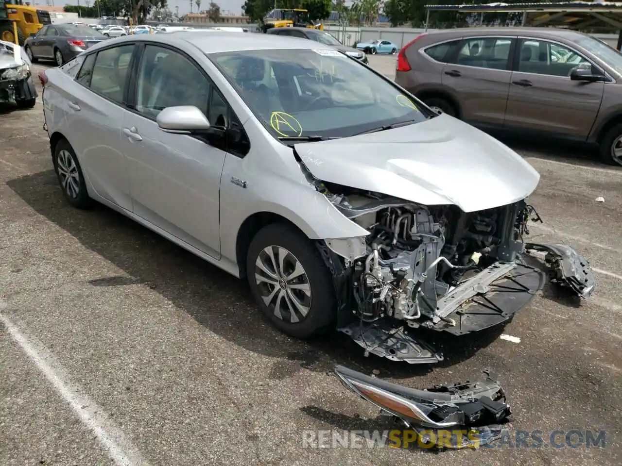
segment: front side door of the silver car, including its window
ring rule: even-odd
[[[134,214],[220,258],[220,175],[227,153],[218,141],[164,132],[156,117],[166,107],[190,105],[224,127],[227,105],[205,71],[174,48],[146,45],[136,76],[135,101],[121,124]]]

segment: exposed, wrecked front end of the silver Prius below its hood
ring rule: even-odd
[[[360,244],[327,241],[325,247],[338,259],[323,251],[340,308],[351,311],[339,330],[366,354],[410,363],[442,360],[409,330],[458,336],[501,324],[531,301],[547,272],[551,281],[583,298],[594,289],[587,260],[574,250],[522,241],[529,234],[528,222],[541,222],[525,200],[463,212],[453,205],[423,206],[331,183],[317,188],[369,232]],[[546,252],[549,270],[527,265],[527,248]]]

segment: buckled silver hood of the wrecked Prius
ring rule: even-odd
[[[445,114],[294,148],[322,181],[425,205],[455,204],[465,212],[524,199],[540,180],[518,153]]]

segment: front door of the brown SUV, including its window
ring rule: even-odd
[[[576,66],[598,67],[569,45],[549,40],[521,39],[516,52],[506,126],[585,139],[605,83],[571,81],[570,71]]]

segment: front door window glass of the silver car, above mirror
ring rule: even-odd
[[[166,107],[192,105],[208,116],[210,90],[210,81],[182,54],[170,48],[145,47],[138,71],[136,111],[156,118]]]

